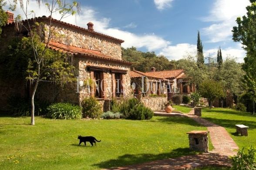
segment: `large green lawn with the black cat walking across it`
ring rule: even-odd
[[[0,117],[1,170],[97,170],[195,154],[192,130],[206,130],[189,118],[149,121],[51,120]],[[77,135],[101,142],[77,146]],[[250,132],[249,132],[250,135]]]

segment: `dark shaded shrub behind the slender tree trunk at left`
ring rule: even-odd
[[[50,105],[48,101],[34,100],[34,114],[44,115],[47,113],[47,107]],[[14,95],[8,98],[7,112],[13,116],[30,116],[32,110],[31,99],[21,97],[20,95]]]

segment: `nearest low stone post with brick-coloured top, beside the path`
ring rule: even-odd
[[[208,133],[209,131],[187,132],[187,134],[189,134],[189,149],[195,151],[208,152]]]

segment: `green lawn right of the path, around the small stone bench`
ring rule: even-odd
[[[212,108],[211,110],[202,108],[202,118],[225,127],[239,148],[250,145],[256,147],[256,115],[228,108]],[[236,124],[249,126],[247,137],[236,134]]]

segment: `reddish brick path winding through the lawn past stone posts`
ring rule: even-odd
[[[231,167],[229,156],[236,154],[233,150],[239,147],[229,136],[228,132],[219,125],[206,121],[203,118],[194,115],[194,110],[187,114],[189,118],[199,122],[210,131],[210,138],[214,149],[209,153],[188,155],[178,158],[170,158],[165,160],[156,160],[148,163],[130,165],[126,167],[116,167],[104,170],[192,170],[202,166],[221,166]]]

